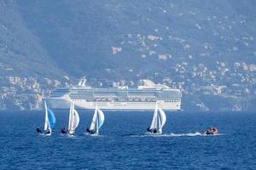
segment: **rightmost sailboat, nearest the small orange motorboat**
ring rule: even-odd
[[[165,111],[158,108],[157,105],[155,105],[154,109],[154,116],[151,122],[151,126],[148,127],[148,132],[151,134],[161,134],[162,128],[164,127],[166,123],[166,113]]]

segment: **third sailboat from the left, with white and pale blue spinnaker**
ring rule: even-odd
[[[104,120],[105,120],[105,116],[104,116],[103,111],[98,109],[96,106],[92,121],[90,123],[90,127],[87,127],[86,131],[90,135],[94,135],[94,136],[98,135],[99,129],[102,127]]]

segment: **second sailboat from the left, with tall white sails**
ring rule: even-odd
[[[73,101],[69,110],[68,135],[74,135],[76,128],[79,126],[79,113],[74,109]]]

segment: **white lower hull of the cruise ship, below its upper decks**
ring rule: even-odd
[[[181,108],[181,102],[158,101],[86,101],[85,99],[73,99],[74,105],[78,109],[94,110],[96,105],[99,109],[108,111],[152,111],[155,103],[165,111],[178,111]],[[70,99],[49,98],[47,104],[52,109],[69,109]]]

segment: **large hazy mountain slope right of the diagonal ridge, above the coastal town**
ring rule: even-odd
[[[105,77],[108,69],[113,77],[120,73],[126,77],[131,69],[148,75],[180,62],[214,66],[209,61],[255,60],[253,1],[20,1],[19,5],[26,26],[58,66],[75,77]],[[121,51],[114,54],[115,49]]]

